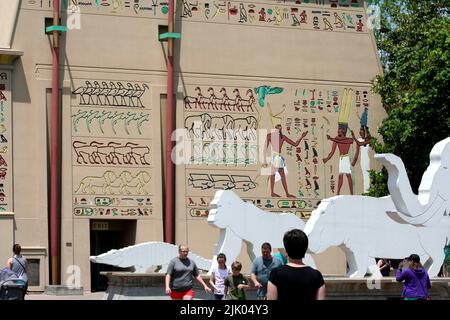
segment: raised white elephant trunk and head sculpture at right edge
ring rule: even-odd
[[[411,190],[402,159],[393,154],[377,154],[375,159],[388,171],[389,193],[399,218],[414,225],[435,226],[450,214],[450,138],[441,140],[431,150],[419,195]]]

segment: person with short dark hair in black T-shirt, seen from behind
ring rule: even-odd
[[[313,301],[325,299],[325,282],[322,274],[303,263],[308,249],[308,237],[293,229],[284,234],[284,248],[288,263],[273,269],[267,286],[268,300]]]

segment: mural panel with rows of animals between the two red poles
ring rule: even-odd
[[[155,159],[149,84],[81,79],[74,83],[73,214],[151,217]]]

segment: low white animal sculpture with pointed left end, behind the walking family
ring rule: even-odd
[[[134,267],[135,273],[145,273],[151,266],[161,266],[160,273],[165,273],[169,262],[177,257],[178,246],[166,242],[144,242],[119,250],[113,249],[98,256],[91,256],[95,263],[109,264],[116,267]],[[202,270],[211,268],[211,260],[202,258],[195,253],[189,253],[189,259],[193,260]]]

